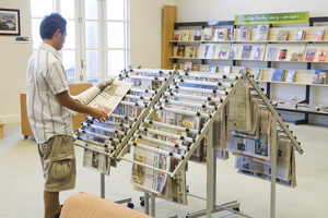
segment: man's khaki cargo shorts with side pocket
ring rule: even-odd
[[[73,137],[55,135],[44,144],[38,144],[45,191],[59,192],[75,186],[75,155]]]

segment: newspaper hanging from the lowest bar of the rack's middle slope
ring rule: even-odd
[[[133,159],[138,162],[150,165],[159,169],[169,170],[171,157],[163,154],[136,147]],[[137,164],[132,166],[132,182],[138,187],[154,194],[160,194],[163,191],[166,181],[167,174],[163,172]]]

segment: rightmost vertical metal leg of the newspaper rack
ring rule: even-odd
[[[277,117],[271,119],[271,204],[270,218],[276,218]]]

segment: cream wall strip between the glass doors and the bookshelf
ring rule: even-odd
[[[175,0],[130,0],[131,66],[161,68],[162,8]]]

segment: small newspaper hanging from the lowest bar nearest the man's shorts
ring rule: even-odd
[[[97,149],[99,152],[109,152],[108,148],[92,144],[87,144],[87,147],[92,147],[93,149]],[[83,155],[83,167],[109,175],[110,157],[108,155],[85,148]]]

